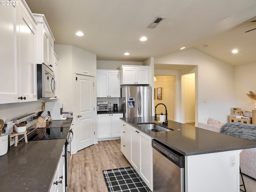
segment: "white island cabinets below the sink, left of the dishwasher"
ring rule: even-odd
[[[153,190],[152,138],[120,120],[121,151],[146,185]],[[123,126],[122,126],[123,125]],[[130,138],[128,136],[130,131]],[[129,146],[130,144],[130,146]],[[128,146],[128,147],[126,147]],[[130,148],[130,150],[129,150]],[[127,152],[128,151],[128,152]],[[129,153],[129,154],[128,154]]]

